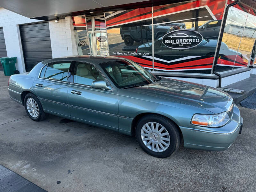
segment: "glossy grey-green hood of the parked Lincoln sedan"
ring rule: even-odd
[[[163,104],[168,103],[166,100],[171,100],[203,108],[214,114],[228,112],[226,105],[229,95],[219,89],[201,84],[162,78],[153,84],[125,90],[138,93],[137,96],[143,100],[148,98],[148,100]]]

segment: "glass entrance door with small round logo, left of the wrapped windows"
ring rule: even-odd
[[[104,15],[85,17],[91,55],[108,56],[108,38]]]

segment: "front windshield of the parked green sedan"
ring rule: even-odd
[[[158,78],[147,69],[130,60],[101,63],[113,83],[121,89],[151,84]]]

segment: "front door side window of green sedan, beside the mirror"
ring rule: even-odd
[[[77,63],[75,67],[74,83],[92,86],[95,80],[104,80],[100,71],[87,63]]]

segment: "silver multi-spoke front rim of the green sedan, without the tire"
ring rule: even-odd
[[[144,145],[154,152],[163,152],[170,146],[170,135],[165,127],[156,122],[144,124],[140,131]]]

